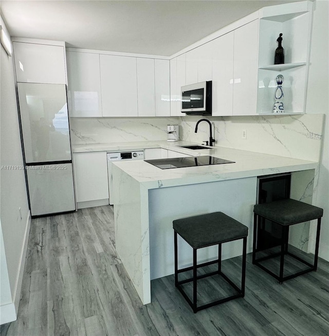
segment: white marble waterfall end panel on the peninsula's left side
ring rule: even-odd
[[[115,165],[113,176],[116,251],[145,305],[151,302],[148,191]]]

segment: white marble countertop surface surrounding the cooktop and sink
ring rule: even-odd
[[[113,164],[129,174],[147,189],[173,187],[187,184],[207,183],[222,180],[241,179],[251,176],[270,175],[291,171],[316,169],[318,162],[299,160],[290,157],[249,152],[226,147],[212,147],[202,150],[181,148],[181,145],[191,145],[187,142],[138,142],[117,144],[76,145],[74,152],[87,151],[121,151],[129,149],[164,148],[175,150],[192,156],[211,155],[234,161],[235,163],[160,169],[143,160],[120,161]],[[199,144],[200,145],[200,144]]]

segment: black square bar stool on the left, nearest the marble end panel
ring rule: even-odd
[[[248,227],[234,220],[233,218],[221,212],[215,212],[205,215],[192,216],[173,221],[174,229],[174,249],[175,249],[175,286],[187,300],[193,312],[212,307],[237,297],[245,295],[245,277],[246,277],[246,251]],[[183,238],[193,249],[193,266],[178,270],[177,256],[177,234]],[[237,287],[221,270],[222,261],[222,243],[243,239],[242,254],[242,276],[241,288]],[[202,247],[218,245],[218,259],[197,264],[197,250]],[[197,269],[217,264],[215,272],[197,275]],[[187,271],[193,271],[193,276],[188,279],[178,281],[178,274]],[[211,303],[197,306],[197,280],[212,275],[222,276],[228,284],[233,287],[237,294],[215,300]],[[193,299],[191,300],[181,285],[193,281]]]

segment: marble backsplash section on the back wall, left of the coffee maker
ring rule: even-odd
[[[167,140],[177,118],[71,118],[72,145]]]

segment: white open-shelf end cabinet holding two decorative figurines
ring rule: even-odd
[[[276,77],[282,75],[284,113],[304,113],[312,2],[264,7],[260,10],[259,22],[257,112],[272,113],[278,85]],[[280,33],[283,39],[284,64],[274,65]]]

